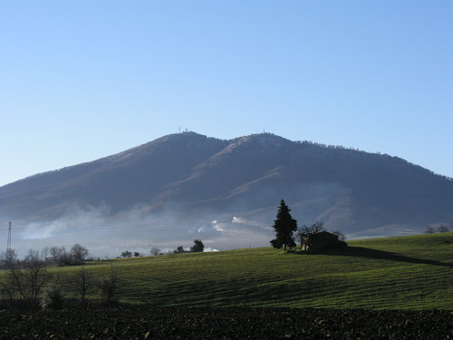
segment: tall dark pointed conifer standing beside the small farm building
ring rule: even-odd
[[[274,248],[295,247],[293,233],[297,230],[297,221],[290,214],[291,209],[284,204],[284,199],[280,201],[277,216],[274,221],[275,239],[271,240],[271,245]]]

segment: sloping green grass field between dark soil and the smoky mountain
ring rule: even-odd
[[[453,309],[453,233],[348,242],[322,254],[248,248],[93,262],[146,306]],[[55,267],[69,276],[79,267]]]

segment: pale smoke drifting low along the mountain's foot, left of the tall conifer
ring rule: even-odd
[[[254,219],[229,214],[194,218],[180,216],[174,205],[160,213],[142,206],[111,215],[105,204],[99,207],[73,206],[59,219],[16,225],[13,248],[24,255],[30,248],[71,248],[74,243],[90,249],[93,257],[117,257],[124,250],[149,255],[158,247],[167,252],[178,246],[189,248],[201,239],[207,251],[268,245],[268,230]],[[214,215],[214,213],[213,213]],[[1,240],[1,239],[0,239]],[[5,242],[6,243],[6,242]]]

